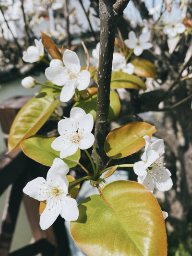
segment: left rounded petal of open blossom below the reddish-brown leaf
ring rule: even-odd
[[[49,81],[55,85],[65,85],[69,81],[69,75],[66,68],[57,66],[57,67],[48,67],[45,70],[45,76]]]

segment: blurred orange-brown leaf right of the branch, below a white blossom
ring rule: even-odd
[[[134,65],[134,73],[143,77],[156,77],[156,68],[150,61],[144,59],[134,59],[131,61]]]

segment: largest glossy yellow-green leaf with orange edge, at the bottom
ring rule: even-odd
[[[142,184],[115,181],[79,206],[71,222],[75,243],[87,256],[167,256],[161,208]]]

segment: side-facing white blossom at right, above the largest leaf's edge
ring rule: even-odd
[[[152,193],[154,188],[168,191],[173,183],[170,171],[161,163],[161,156],[165,153],[163,140],[159,139],[151,144],[149,136],[144,136],[144,139],[146,144],[142,161],[136,162],[133,166],[134,172],[138,175],[138,183],[143,184]]]

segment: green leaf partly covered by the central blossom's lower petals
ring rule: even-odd
[[[22,150],[24,154],[27,155],[29,158],[34,159],[35,161],[51,166],[53,160],[55,158],[60,158],[60,152],[54,150],[51,147],[51,143],[56,139],[56,137],[46,137],[43,135],[35,135],[21,143]],[[70,167],[74,167],[77,163],[72,162],[68,159],[79,161],[81,157],[81,151],[78,148],[77,152],[72,156],[67,158],[63,158],[62,160]]]

